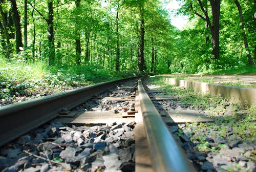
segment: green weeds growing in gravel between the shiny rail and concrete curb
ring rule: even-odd
[[[190,106],[190,109],[203,111],[209,117],[214,118],[215,122],[213,123],[186,124],[187,127],[193,126],[194,131],[199,131],[190,138],[191,141],[196,141],[199,151],[218,152],[222,147],[222,143],[219,143],[217,147],[210,146],[206,141],[208,135],[219,138],[219,140],[226,139],[226,141],[234,139],[243,142],[256,141],[256,105],[242,108],[241,105],[232,104],[221,96],[211,97],[195,93],[190,89],[170,85],[164,82],[163,77],[160,76],[150,78],[150,80],[151,83],[162,86],[158,88],[159,90],[165,90],[170,96],[176,96],[180,104],[186,107]]]

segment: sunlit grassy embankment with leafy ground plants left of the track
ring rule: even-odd
[[[0,58],[0,104],[21,102],[138,74],[108,71],[92,65],[50,67],[42,61],[24,63]]]

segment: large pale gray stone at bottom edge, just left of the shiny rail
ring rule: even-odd
[[[118,155],[115,153],[112,153],[110,155],[105,155],[102,157],[104,160],[104,166],[106,169],[111,169],[111,170],[117,170],[121,166],[122,162],[118,160]]]

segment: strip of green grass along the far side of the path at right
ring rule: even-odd
[[[218,75],[241,75],[241,74],[256,74],[256,65],[233,67],[230,69],[208,70],[205,74],[218,74]]]

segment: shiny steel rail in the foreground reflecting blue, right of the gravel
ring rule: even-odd
[[[138,92],[154,171],[196,171],[148,97],[141,78]]]

